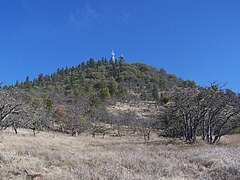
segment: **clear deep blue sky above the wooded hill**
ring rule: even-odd
[[[1,0],[0,81],[124,54],[240,92],[239,0]]]

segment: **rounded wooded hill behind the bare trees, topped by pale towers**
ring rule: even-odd
[[[57,125],[58,130],[66,131],[73,126],[79,127],[92,116],[104,122],[109,121],[112,114],[117,115],[115,118],[126,118],[119,114],[132,114],[133,118],[135,115],[152,117],[155,102],[162,101],[165,93],[176,87],[195,87],[195,82],[184,81],[163,68],[129,64],[123,58],[114,61],[91,58],[75,67],[59,68],[51,75],[39,74],[33,81],[26,77],[24,82],[17,81],[14,86],[3,89],[21,91],[18,101],[31,109],[28,110],[31,115],[24,117],[29,119],[27,123],[16,123],[16,126],[27,128],[35,124],[52,129]],[[50,124],[50,121],[54,122]]]

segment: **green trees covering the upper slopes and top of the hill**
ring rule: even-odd
[[[33,81],[27,77],[24,83],[16,82],[15,86],[29,91],[43,91],[46,94],[54,92],[67,97],[98,94],[101,100],[110,97],[127,98],[128,91],[141,93],[139,89],[144,88],[142,99],[147,100],[151,97],[147,94],[152,94],[153,99],[158,101],[158,88],[163,91],[186,84],[192,86],[189,85],[191,82],[184,82],[167,74],[163,68],[157,70],[142,63],[129,64],[120,57],[115,62],[106,58],[97,61],[91,58],[76,67],[58,68],[51,75],[39,74]]]

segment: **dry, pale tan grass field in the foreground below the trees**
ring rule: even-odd
[[[153,137],[108,137],[21,129],[1,134],[0,179],[41,173],[49,180],[71,179],[240,179],[240,136],[219,145],[187,145]]]

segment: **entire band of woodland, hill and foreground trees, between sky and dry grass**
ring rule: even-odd
[[[199,87],[165,69],[106,58],[1,88],[0,126],[122,136],[151,132],[216,143],[236,132],[239,95],[214,82]],[[127,109],[121,109],[127,106]],[[143,111],[141,115],[139,112]]]

